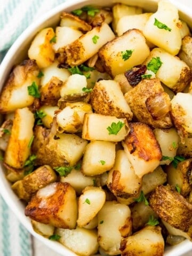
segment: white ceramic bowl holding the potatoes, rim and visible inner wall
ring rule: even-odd
[[[157,9],[158,0],[69,0],[67,3],[63,3],[55,7],[53,10],[43,15],[41,19],[37,20],[31,26],[29,26],[21,34],[17,41],[15,41],[9,52],[7,52],[0,66],[0,89],[2,88],[13,65],[19,63],[21,60],[26,58],[29,44],[35,36],[35,34],[37,33],[37,31],[48,26],[56,25],[59,22],[60,13],[63,10],[70,12],[72,10],[81,8],[84,5],[97,4],[101,6],[107,6],[112,5],[115,2],[122,2],[128,5],[137,5],[143,7],[143,9],[146,11],[154,12]],[[170,2],[172,2],[178,8],[180,18],[182,20],[185,20],[188,23],[188,25],[192,28],[192,10],[188,6],[182,4],[180,0],[170,0]],[[4,176],[3,166],[0,167],[0,193],[2,194],[3,198],[5,199],[6,203],[9,205],[11,210],[23,224],[23,226],[25,226],[32,235],[34,235],[46,246],[49,246],[51,249],[53,249],[55,252],[60,253],[61,255],[76,255],[75,253],[71,252],[66,247],[61,245],[60,243],[50,241],[49,239],[44,238],[43,236],[35,233],[35,231],[31,227],[30,220],[24,214],[24,205],[19,201],[19,198],[13,193],[10,187],[10,183],[6,180]],[[190,250],[191,252],[189,252]],[[192,255],[192,243],[186,240],[180,243],[179,245],[166,247],[164,255],[179,256],[187,252],[187,255]]]

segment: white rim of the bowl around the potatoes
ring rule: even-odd
[[[132,2],[133,0],[108,0],[106,2],[114,4],[114,3],[127,3]],[[157,2],[159,0],[149,0],[153,5],[157,5]],[[54,7],[52,10],[47,11],[44,13],[40,18],[38,18],[36,21],[31,23],[30,26],[28,26],[22,34],[18,37],[18,39],[13,43],[13,45],[10,47],[9,51],[7,51],[3,61],[0,65],[0,90],[1,85],[4,84],[5,79],[7,75],[9,75],[10,70],[12,68],[11,63],[14,63],[13,56],[15,51],[20,49],[22,46],[22,42],[26,40],[26,38],[33,38],[33,36],[37,33],[37,31],[43,27],[45,27],[43,24],[45,21],[50,21],[53,17],[57,17],[58,14],[60,14],[62,11],[71,11],[74,9],[77,9],[79,6],[86,5],[86,3],[90,4],[90,2],[93,2],[91,0],[68,0],[65,3],[59,4],[58,6]],[[102,0],[98,0],[97,4],[102,4]],[[142,2],[142,0],[136,0],[134,1],[134,4],[132,5],[138,5],[135,2]],[[169,0],[169,2],[173,3],[181,13],[185,13],[188,17],[191,16],[192,7],[189,7],[183,3],[181,3],[179,0]],[[105,5],[102,4],[102,5]],[[107,5],[107,4],[106,4]],[[191,23],[192,27],[192,23]],[[31,39],[30,39],[31,41]],[[15,60],[16,61],[16,60]],[[0,170],[2,168],[0,167]],[[4,177],[1,179],[1,176]],[[7,187],[8,186],[8,187]],[[10,207],[10,209],[14,212],[17,219],[22,223],[23,226],[29,231],[30,234],[32,234],[34,237],[39,239],[39,241],[43,242],[46,246],[50,247],[53,251],[60,253],[65,256],[75,256],[77,254],[71,252],[67,247],[61,245],[59,242],[50,241],[49,239],[43,237],[42,235],[37,234],[33,227],[31,226],[30,220],[28,217],[23,218],[23,213],[21,212],[21,209],[17,207],[18,204],[20,204],[19,198],[13,193],[13,190],[10,187],[10,182],[6,180],[4,173],[2,172],[0,174],[0,194],[2,195],[3,199],[7,203],[7,205]],[[57,246],[56,244],[57,243]],[[168,250],[165,252],[166,256],[175,256],[175,255],[182,255],[183,253],[187,253],[190,250],[192,250],[192,243],[188,240],[183,241],[180,246],[174,246],[175,250]],[[173,248],[173,247],[172,247]],[[177,248],[177,249],[176,249]],[[177,252],[177,254],[175,254]],[[98,255],[98,254],[97,254]]]

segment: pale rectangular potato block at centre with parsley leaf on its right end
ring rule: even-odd
[[[122,141],[129,132],[126,118],[85,114],[82,138],[85,140]]]

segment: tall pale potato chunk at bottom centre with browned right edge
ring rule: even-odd
[[[131,228],[129,206],[119,204],[116,201],[107,201],[98,213],[98,242],[100,247],[107,254],[120,254],[121,240],[131,234]]]

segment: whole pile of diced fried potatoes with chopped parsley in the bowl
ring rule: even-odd
[[[192,239],[191,59],[166,0],[84,6],[39,31],[0,95],[5,175],[37,233],[82,256]]]

